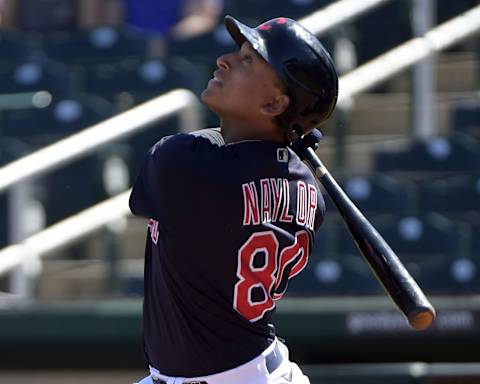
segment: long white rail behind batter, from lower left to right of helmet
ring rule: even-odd
[[[479,31],[480,6],[476,6],[470,11],[437,26],[424,37],[412,39],[342,76],[340,79],[339,102],[347,101],[354,95],[379,84],[423,58],[448,48]],[[82,236],[82,234],[124,217],[129,213],[127,204],[128,194],[129,191],[92,207],[88,211],[64,220],[19,244],[0,251],[0,275],[24,264],[26,260],[33,260],[31,265],[35,265],[35,263],[38,265],[38,260],[44,253],[66,246],[70,241]],[[105,209],[109,213],[102,219]],[[96,219],[94,220],[93,218]],[[67,234],[67,231],[70,233]],[[55,240],[56,238],[52,234],[62,234],[65,241]],[[48,242],[50,244],[46,244]]]

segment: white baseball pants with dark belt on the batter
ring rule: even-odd
[[[283,361],[275,371],[269,373],[265,364],[265,356],[273,350],[275,343],[280,345]],[[137,384],[155,384],[154,379],[163,380],[167,384],[183,384],[190,381],[206,381],[208,384],[310,384],[310,380],[303,374],[298,365],[289,360],[288,348],[278,340],[253,360],[228,371],[208,376],[185,378],[165,376],[155,368],[150,367],[150,375]]]

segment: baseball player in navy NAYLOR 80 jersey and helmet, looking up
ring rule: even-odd
[[[220,128],[160,140],[130,196],[149,219],[141,384],[309,383],[272,316],[325,211],[289,144],[330,116],[337,74],[291,19],[225,25],[239,50],[202,93]]]

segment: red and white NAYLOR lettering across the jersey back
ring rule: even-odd
[[[317,209],[317,188],[297,181],[297,201],[293,214],[290,207],[290,185],[284,178],[261,179],[259,188],[254,181],[242,184],[243,225],[283,222],[304,225],[314,230]]]

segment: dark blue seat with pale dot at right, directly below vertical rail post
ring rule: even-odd
[[[460,134],[416,141],[405,151],[378,152],[375,168],[379,171],[478,171],[480,144]]]

